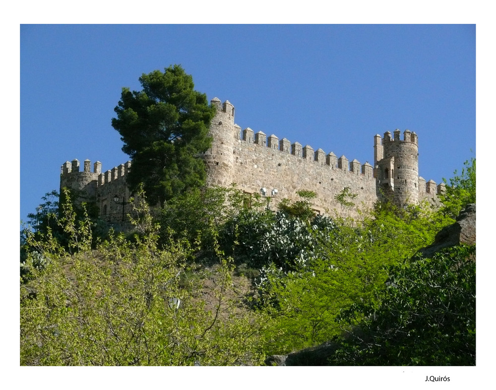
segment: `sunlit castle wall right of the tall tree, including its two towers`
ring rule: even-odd
[[[247,193],[258,193],[261,188],[277,189],[271,197],[273,207],[283,198],[299,200],[299,190],[316,193],[314,208],[320,213],[357,218],[373,204],[388,197],[397,205],[418,203],[436,198],[442,184],[425,183],[418,176],[418,137],[405,130],[400,140],[400,130],[374,136],[374,167],[366,162],[337,158],[330,152],[303,146],[299,142],[279,139],[276,135],[241,131],[234,122],[234,106],[226,101],[212,99],[217,114],[212,120],[210,134],[212,148],[203,158],[207,164],[208,185],[229,186],[232,183]],[[348,188],[355,199],[354,206],[343,207],[335,196]],[[433,202],[433,201],[431,201]],[[435,199],[434,199],[435,202]]]

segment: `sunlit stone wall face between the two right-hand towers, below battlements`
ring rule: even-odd
[[[313,151],[304,158],[242,139],[236,141],[234,159],[233,177],[239,189],[258,193],[265,187],[268,194],[274,188],[278,190],[271,199],[272,208],[283,198],[301,200],[296,192],[308,190],[316,193],[313,204],[320,213],[358,217],[358,208],[368,210],[377,199],[372,166],[362,174],[360,168],[350,171],[348,163],[338,168],[337,164],[327,164],[325,160],[315,161]],[[360,163],[357,165],[360,167]],[[358,195],[352,200],[354,207],[342,208],[334,198],[345,187]]]

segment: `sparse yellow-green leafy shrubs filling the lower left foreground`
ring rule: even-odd
[[[188,243],[157,246],[157,228],[141,204],[135,243],[123,235],[91,251],[89,220],[75,223],[70,204],[65,230],[73,255],[48,237],[33,243],[45,259],[26,267],[20,286],[21,365],[243,365],[263,361],[260,314],[228,297],[232,259],[218,254],[213,272],[191,278]],[[201,275],[201,276],[200,276]],[[186,282],[187,281],[187,282]],[[203,286],[210,282],[211,298]],[[21,280],[22,282],[22,280]],[[179,308],[170,305],[179,298]]]

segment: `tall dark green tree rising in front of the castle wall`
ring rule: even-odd
[[[123,88],[112,126],[132,158],[127,177],[134,191],[143,183],[152,204],[201,186],[206,178],[197,154],[211,145],[208,136],[215,107],[194,90],[192,77],[180,65],[139,77],[143,89]]]

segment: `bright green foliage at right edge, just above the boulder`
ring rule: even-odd
[[[446,193],[441,195],[442,211],[455,218],[468,203],[476,202],[476,164],[475,158],[471,158],[463,163],[465,167],[460,175],[455,170],[454,177],[442,179],[446,184]]]

